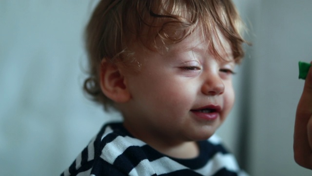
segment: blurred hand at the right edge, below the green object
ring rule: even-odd
[[[302,167],[312,169],[312,66],[298,103],[293,137],[295,161]]]

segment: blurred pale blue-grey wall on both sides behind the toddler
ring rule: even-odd
[[[59,175],[107,119],[81,90],[82,32],[96,0],[0,1],[0,175]],[[234,0],[250,31],[235,77],[236,105],[219,130],[252,176],[311,176],[292,158],[312,60],[311,0]]]

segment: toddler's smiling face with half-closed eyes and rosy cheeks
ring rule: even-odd
[[[205,140],[232,109],[235,62],[230,46],[217,60],[192,34],[160,54],[137,50],[141,71],[126,74],[131,100],[121,106],[125,127],[136,137],[169,142]]]

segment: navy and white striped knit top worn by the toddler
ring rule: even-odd
[[[134,138],[122,123],[110,123],[61,176],[247,176],[217,137],[198,145],[198,157],[173,158]]]

